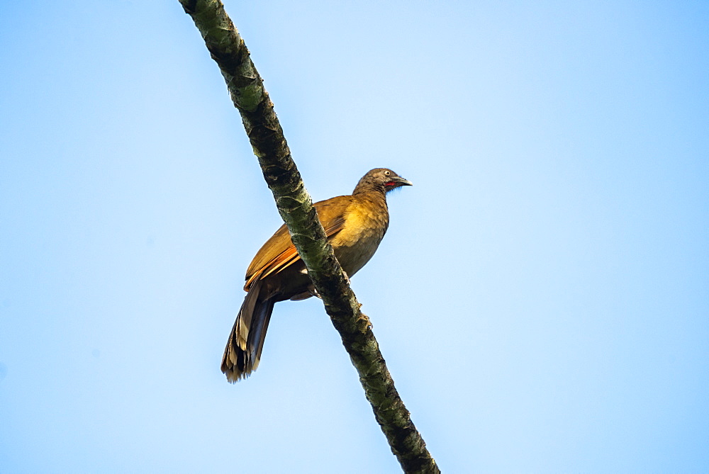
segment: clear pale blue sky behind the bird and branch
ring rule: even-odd
[[[449,473],[709,471],[709,3],[226,8]],[[220,357],[280,225],[175,1],[0,4],[0,472],[396,473],[320,301]]]

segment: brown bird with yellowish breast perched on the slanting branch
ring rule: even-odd
[[[315,203],[318,219],[347,278],[372,258],[389,227],[386,194],[411,181],[388,168],[376,168],[359,180],[350,196]],[[274,303],[318,296],[286,225],[266,241],[246,271],[247,292],[222,357],[230,383],[250,376],[261,360]]]

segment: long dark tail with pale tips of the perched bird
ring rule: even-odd
[[[259,366],[274,300],[259,298],[261,281],[255,281],[244,298],[222,357],[222,372],[234,383]]]

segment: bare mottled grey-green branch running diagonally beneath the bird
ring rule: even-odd
[[[273,103],[244,41],[220,0],[180,0],[180,3],[194,20],[219,66],[281,218],[323,297],[325,310],[340,332],[391,451],[407,473],[440,473],[394,388],[369,320],[359,310],[361,305],[325,238],[311,197],[291,159]]]

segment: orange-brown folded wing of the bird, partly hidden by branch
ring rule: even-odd
[[[325,228],[325,235],[332,239],[345,225],[345,211],[352,201],[352,196],[337,196],[320,201],[314,206],[318,211],[320,223]],[[279,273],[301,259],[291,242],[286,225],[263,244],[246,271],[245,290],[258,278],[263,279],[273,273]]]

